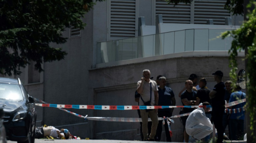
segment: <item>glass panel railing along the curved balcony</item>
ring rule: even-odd
[[[188,29],[97,43],[97,64],[186,51],[227,51],[232,38],[220,34],[234,29]]]

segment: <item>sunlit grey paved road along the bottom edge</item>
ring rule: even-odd
[[[228,141],[230,143],[246,143],[245,141]],[[14,141],[7,141],[7,143],[17,143]],[[123,141],[123,140],[48,140],[36,139],[35,143],[144,143],[144,141]],[[160,143],[160,142],[145,142],[145,143]],[[161,142],[163,143],[163,142]],[[172,142],[180,143],[180,142]]]

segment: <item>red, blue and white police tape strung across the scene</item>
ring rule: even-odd
[[[112,121],[112,122],[141,122],[141,118],[87,117],[87,115],[86,116],[82,116],[82,115],[79,115],[77,113],[65,110],[63,108],[99,109],[99,110],[132,110],[132,109],[164,109],[164,108],[199,108],[199,107],[205,107],[205,106],[65,105],[65,104],[49,104],[49,103],[44,102],[42,100],[39,100],[37,98],[34,98],[34,100],[43,103],[43,104],[36,103],[37,106],[41,106],[41,107],[55,107],[55,108],[58,108],[58,109],[60,109],[62,111],[71,113],[71,114],[73,114],[75,116],[78,116],[78,117],[84,118],[84,119],[88,119],[88,120]],[[242,99],[242,100],[226,103],[225,107],[227,108],[227,107],[230,107],[230,106],[234,106],[234,105],[243,103],[245,101],[246,101],[246,99]],[[211,108],[211,106],[206,106],[206,107],[210,107]],[[237,108],[237,109],[225,109],[225,113],[238,113],[238,112],[242,112],[242,111],[245,111],[244,107]],[[174,120],[172,120],[171,118],[178,118],[178,117],[181,117],[181,116],[188,116],[189,114],[190,113],[175,115],[175,116],[172,116],[172,117],[168,117],[167,119],[174,123]],[[158,118],[158,120],[164,120],[164,118]],[[148,118],[148,121],[151,121],[151,119]]]

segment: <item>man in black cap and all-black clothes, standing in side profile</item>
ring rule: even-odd
[[[223,118],[223,112],[225,110],[225,84],[222,81],[223,72],[222,71],[216,71],[213,73],[214,80],[217,82],[217,84],[214,86],[213,90],[209,93],[210,99],[212,99],[212,119],[213,123],[217,129],[218,133],[218,139],[217,143],[220,143],[223,141],[223,125],[222,125],[222,118]]]

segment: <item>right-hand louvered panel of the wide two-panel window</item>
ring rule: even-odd
[[[195,24],[206,24],[207,19],[213,19],[214,24],[225,24],[225,17],[230,13],[224,9],[226,0],[200,0],[195,1]]]

